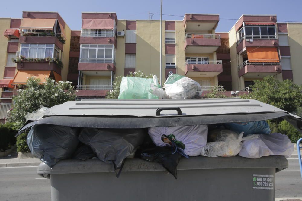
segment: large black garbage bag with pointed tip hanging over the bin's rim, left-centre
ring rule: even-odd
[[[83,128],[79,140],[91,147],[98,159],[113,163],[118,177],[127,158],[148,135],[146,129]]]

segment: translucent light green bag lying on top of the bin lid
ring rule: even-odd
[[[154,83],[153,80],[156,80]],[[120,83],[118,99],[161,99],[164,92],[160,88],[157,77],[123,77]]]

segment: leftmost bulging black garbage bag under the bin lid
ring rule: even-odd
[[[79,128],[40,124],[31,127],[26,141],[31,154],[52,168],[59,160],[71,158],[78,136]]]

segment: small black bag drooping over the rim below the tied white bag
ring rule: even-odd
[[[139,149],[136,157],[146,161],[158,162],[177,179],[177,165],[182,155],[179,152],[172,152],[168,146],[154,146],[147,149]]]

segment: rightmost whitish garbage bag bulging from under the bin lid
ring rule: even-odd
[[[283,155],[290,157],[294,152],[294,145],[286,135],[271,133],[260,134],[259,138],[246,140],[239,155],[246,158],[258,159],[262,156]]]

